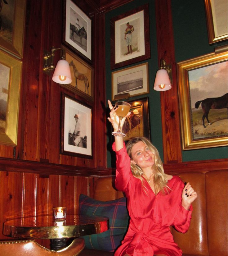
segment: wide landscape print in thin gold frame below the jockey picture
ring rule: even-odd
[[[148,62],[112,72],[112,100],[123,93],[131,97],[149,93]]]

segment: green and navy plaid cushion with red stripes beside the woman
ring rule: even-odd
[[[125,197],[104,202],[80,194],[79,214],[109,217],[109,230],[83,236],[85,248],[113,252],[120,245],[129,220]]]

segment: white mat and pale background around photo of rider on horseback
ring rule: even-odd
[[[75,12],[75,16],[72,15],[71,9]],[[70,24],[75,25],[78,16],[82,18],[81,22],[87,28],[87,51],[70,39]],[[66,0],[65,41],[91,60],[91,19],[70,0]]]

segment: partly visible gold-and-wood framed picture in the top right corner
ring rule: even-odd
[[[209,44],[228,38],[228,1],[204,0]]]

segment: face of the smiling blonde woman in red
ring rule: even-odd
[[[132,147],[133,164],[137,164],[141,169],[151,167],[154,165],[154,154],[147,148],[142,141],[137,142]]]

